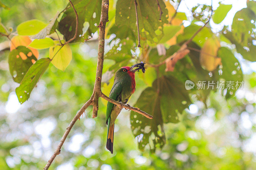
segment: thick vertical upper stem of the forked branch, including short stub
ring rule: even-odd
[[[105,47],[105,28],[108,22],[108,0],[102,0],[101,4],[101,15],[99,24],[99,46],[98,46],[98,62],[96,71],[96,80],[93,89],[93,109],[92,118],[97,117],[99,110],[99,97],[101,92],[101,77],[104,61],[104,47]]]

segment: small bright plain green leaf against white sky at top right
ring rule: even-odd
[[[216,24],[220,24],[221,21],[227,16],[228,11],[230,11],[232,8],[232,5],[224,5],[220,4],[220,6],[217,8],[217,10],[214,11],[214,14],[212,15],[212,20]]]

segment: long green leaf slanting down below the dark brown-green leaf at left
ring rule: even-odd
[[[49,58],[41,58],[28,69],[28,72],[20,82],[20,86],[15,90],[21,104],[28,100],[31,91],[35,87],[39,78],[44,74],[50,62],[51,60]]]

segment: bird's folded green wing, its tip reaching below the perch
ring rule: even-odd
[[[122,91],[121,84],[119,82],[114,83],[114,85],[113,85],[113,87],[110,91],[109,98],[113,99],[113,100],[116,100],[120,96],[121,91]],[[108,121],[108,117],[111,114],[111,110],[112,110],[113,106],[114,106],[113,103],[108,102],[108,104],[107,104],[107,113],[106,113],[106,121]]]

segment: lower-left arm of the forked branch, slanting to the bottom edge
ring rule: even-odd
[[[55,159],[55,157],[57,155],[60,154],[60,149],[62,147],[62,145],[64,144],[66,138],[68,137],[68,133],[70,132],[70,130],[72,129],[72,127],[74,126],[74,124],[76,123],[77,119],[80,118],[80,116],[84,113],[85,109],[90,106],[92,103],[92,97],[84,104],[84,106],[76,113],[76,116],[73,118],[73,120],[69,123],[67,130],[65,131],[64,135],[62,136],[59,145],[57,146],[57,149],[55,150],[55,152],[53,153],[52,157],[49,159],[49,161],[47,162],[47,164],[44,167],[44,170],[47,170],[51,164],[52,161]]]

